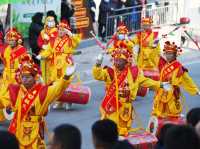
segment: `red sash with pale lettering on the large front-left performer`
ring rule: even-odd
[[[18,109],[21,110],[21,120],[23,120],[23,118],[30,110],[31,105],[35,101],[35,98],[37,97],[41,88],[42,88],[41,84],[36,84],[30,91],[28,91],[26,96],[22,99],[21,109]],[[15,134],[17,128],[17,113],[18,111],[15,112],[14,118],[12,119],[10,126],[8,128],[9,132],[13,134]]]

